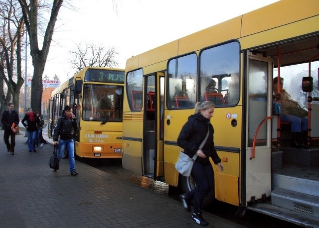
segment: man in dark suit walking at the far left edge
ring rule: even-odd
[[[1,123],[3,126],[3,141],[6,145],[7,152],[14,154],[15,146],[15,132],[12,128],[19,124],[19,115],[14,111],[14,106],[9,103],[8,108],[2,113]],[[11,143],[9,142],[9,137],[11,137]]]

